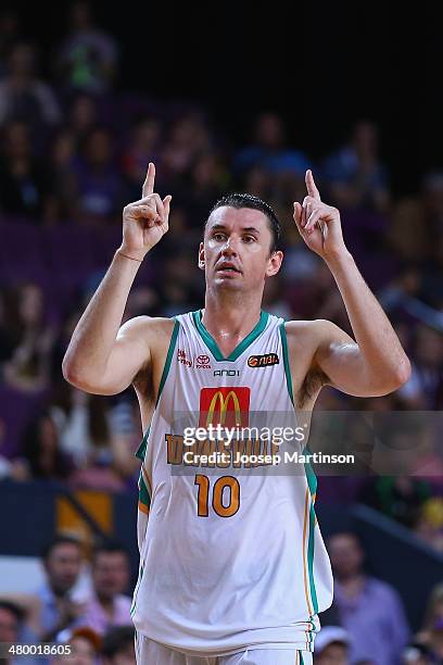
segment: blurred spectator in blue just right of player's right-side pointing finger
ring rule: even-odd
[[[322,179],[328,196],[341,210],[385,212],[390,203],[388,172],[379,156],[377,125],[358,121],[350,142],[325,160]]]

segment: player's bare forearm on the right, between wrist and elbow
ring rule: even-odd
[[[407,355],[352,254],[345,250],[325,261],[342,294],[366,366],[379,375],[395,373],[407,377],[410,368]]]

